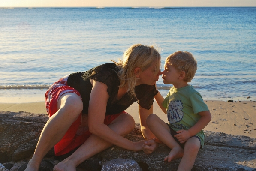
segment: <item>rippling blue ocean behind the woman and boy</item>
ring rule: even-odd
[[[59,78],[138,43],[158,48],[162,71],[191,52],[204,99],[256,99],[256,7],[0,8],[0,102],[43,101]],[[157,81],[163,96],[171,86]]]

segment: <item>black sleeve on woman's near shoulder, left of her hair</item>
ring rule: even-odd
[[[117,87],[116,83],[118,82],[118,76],[113,66],[102,65],[96,67],[93,70],[90,79],[106,84],[108,86],[107,91],[109,96],[114,92],[114,88]]]

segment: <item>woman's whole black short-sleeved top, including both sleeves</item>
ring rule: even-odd
[[[110,96],[107,102],[106,115],[118,114],[126,110],[133,102],[138,103],[142,108],[150,109],[154,102],[154,96],[158,93],[155,86],[141,84],[135,87],[136,97],[131,97],[128,93],[125,93],[123,97],[117,100],[118,86],[120,80],[117,72],[119,69],[115,63],[105,63],[100,66],[96,66],[85,72],[72,73],[68,77],[67,84],[81,94],[84,108],[82,113],[88,114],[90,93],[92,85],[90,79],[102,82],[108,86],[108,95]]]

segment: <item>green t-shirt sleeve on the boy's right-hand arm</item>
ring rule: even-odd
[[[190,105],[193,108],[194,114],[199,113],[201,111],[209,111],[207,105],[202,99],[202,96],[197,92],[191,94]]]

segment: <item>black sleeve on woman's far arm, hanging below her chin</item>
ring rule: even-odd
[[[149,110],[153,105],[154,96],[158,93],[158,91],[154,85],[150,86],[145,84],[143,84],[139,89],[139,92],[142,94],[139,95],[141,98],[139,98],[137,103],[139,103],[142,108]]]

